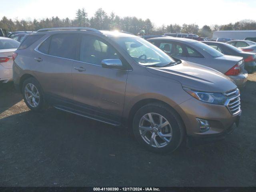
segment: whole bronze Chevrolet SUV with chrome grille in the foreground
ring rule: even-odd
[[[131,127],[154,152],[174,151],[185,138],[222,137],[239,122],[240,94],[229,78],[175,60],[134,35],[42,29],[28,34],[13,55],[14,85],[28,108],[39,111],[47,103]]]

